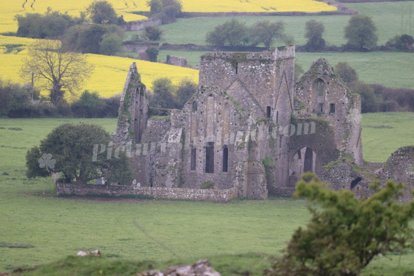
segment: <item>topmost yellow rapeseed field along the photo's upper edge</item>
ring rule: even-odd
[[[118,15],[126,21],[146,19],[133,11],[149,11],[146,0],[108,0]],[[16,32],[14,16],[25,13],[44,13],[47,7],[55,11],[79,16],[92,0],[0,0],[0,33]],[[334,11],[335,7],[315,0],[181,0],[185,12],[320,12]]]

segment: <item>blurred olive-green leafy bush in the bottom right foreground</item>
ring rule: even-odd
[[[398,203],[403,183],[388,181],[366,200],[351,191],[323,188],[319,178],[305,174],[296,185],[295,197],[317,203],[307,229],[295,231],[285,254],[275,259],[268,276],[358,276],[375,256],[401,251],[413,240],[409,221],[414,200]],[[414,193],[413,193],[414,194]]]

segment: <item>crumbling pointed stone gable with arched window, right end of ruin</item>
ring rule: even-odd
[[[352,94],[326,59],[318,59],[295,84],[295,97],[311,116],[329,121],[341,155],[362,165],[360,96]]]

